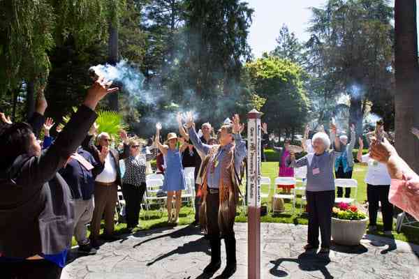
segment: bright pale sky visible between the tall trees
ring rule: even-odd
[[[279,35],[279,29],[283,24],[286,24],[300,41],[307,40],[309,34],[306,29],[311,17],[308,8],[321,8],[327,3],[327,0],[244,1],[248,2],[249,6],[255,10],[248,40],[256,58],[262,56],[263,52],[274,50],[277,45],[276,38]],[[417,3],[419,3],[419,0],[417,0]],[[391,0],[389,4],[394,6],[394,0]]]

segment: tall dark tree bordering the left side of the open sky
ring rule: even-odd
[[[186,1],[184,69],[198,98],[235,91],[242,61],[251,52],[247,35],[253,10],[239,0]]]

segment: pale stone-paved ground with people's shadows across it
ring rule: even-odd
[[[232,278],[247,278],[247,224],[236,224],[235,231],[238,266]],[[419,279],[419,246],[366,235],[360,246],[333,246],[328,259],[304,253],[307,226],[263,223],[260,231],[261,278]],[[223,265],[213,278],[225,266],[223,249]],[[198,229],[154,229],[105,243],[97,255],[73,259],[61,278],[208,278],[202,271],[209,261]]]

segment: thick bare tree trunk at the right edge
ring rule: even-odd
[[[412,126],[419,126],[416,1],[395,1],[395,38],[395,145],[399,155],[419,173],[419,142],[410,133]]]

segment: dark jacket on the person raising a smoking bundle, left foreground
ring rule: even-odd
[[[57,171],[80,146],[95,119],[94,111],[81,106],[41,156],[24,154],[8,169],[0,169],[1,256],[51,255],[71,246],[73,202]],[[33,125],[34,131],[40,128]]]

